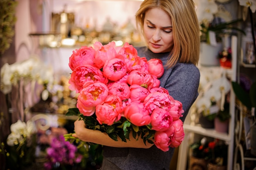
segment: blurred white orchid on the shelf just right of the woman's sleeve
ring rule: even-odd
[[[209,119],[218,116],[219,112],[224,112],[226,95],[230,92],[231,83],[227,78],[227,70],[211,68],[201,71],[199,96],[195,101],[198,114],[202,114]],[[229,116],[225,116],[229,118]]]

